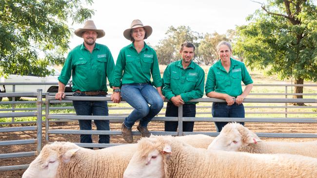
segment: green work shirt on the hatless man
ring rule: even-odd
[[[169,64],[163,74],[163,95],[167,99],[180,95],[187,104],[191,99],[201,98],[204,94],[205,72],[195,62],[184,69],[181,60]]]

